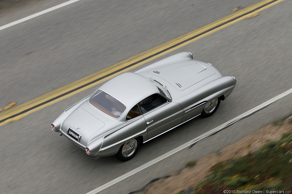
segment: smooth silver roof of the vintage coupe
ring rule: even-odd
[[[98,89],[120,100],[127,108],[132,108],[141,100],[159,92],[152,81],[133,72],[119,74]]]

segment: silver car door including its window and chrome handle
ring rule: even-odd
[[[168,101],[159,94],[151,95],[142,100],[139,107],[147,124],[148,140],[178,126],[182,122],[184,113],[182,107],[175,102]]]

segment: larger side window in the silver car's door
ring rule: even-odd
[[[153,94],[138,103],[142,113],[153,110],[154,108],[168,102],[168,100],[159,94]]]

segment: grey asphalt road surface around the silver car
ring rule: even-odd
[[[42,2],[48,6],[48,1]],[[20,13],[42,10],[42,2]],[[4,29],[0,31],[0,107],[26,102],[230,15],[232,8],[256,2],[82,0]],[[190,51],[194,59],[212,63],[223,75],[235,76],[237,86],[211,118],[192,120],[146,143],[131,161],[93,160],[49,128],[65,108],[95,88],[0,127],[0,193],[86,193],[290,89],[291,6],[291,1],[283,1],[167,54]],[[11,15],[20,13],[12,10],[0,15],[0,24],[12,22]],[[290,114],[290,99],[291,95],[284,97],[103,193],[129,193],[183,167],[188,160],[217,152]]]

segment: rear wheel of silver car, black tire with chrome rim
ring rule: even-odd
[[[115,155],[116,158],[123,162],[131,160],[137,154],[140,144],[140,138],[128,140],[120,147],[119,152]]]

